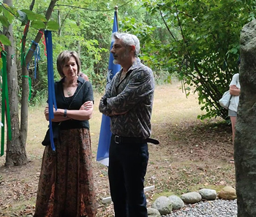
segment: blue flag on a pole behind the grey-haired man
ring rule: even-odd
[[[114,23],[113,23],[113,33],[118,31],[118,20],[117,20],[117,11],[114,14]],[[110,50],[113,46],[113,40],[111,42]],[[108,62],[108,75],[107,75],[107,84],[110,85],[110,82],[116,72],[120,71],[121,66],[117,64],[113,64],[113,54],[110,53],[109,62]],[[99,132],[99,144],[97,151],[97,161],[99,163],[108,166],[108,156],[109,156],[109,147],[110,147],[110,139],[111,139],[111,131],[110,131],[110,117],[102,115],[102,124],[100,126]]]

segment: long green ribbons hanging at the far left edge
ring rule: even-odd
[[[1,123],[3,126],[1,127],[1,152],[0,156],[4,155],[4,114],[7,114],[7,133],[8,139],[12,140],[12,128],[11,128],[11,120],[10,120],[10,104],[9,104],[9,96],[8,96],[8,85],[7,85],[7,58],[6,52],[4,50],[1,51],[1,59],[3,61],[3,68],[1,69],[2,75],[2,90],[1,90]]]

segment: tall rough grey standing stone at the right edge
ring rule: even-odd
[[[241,31],[241,92],[235,138],[238,217],[256,216],[256,20]]]

